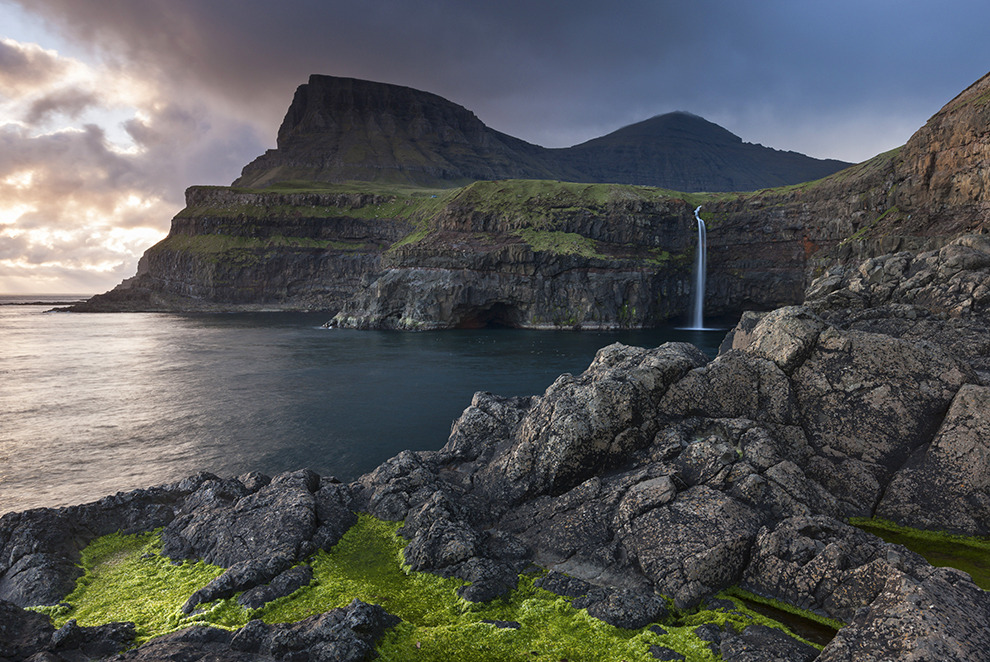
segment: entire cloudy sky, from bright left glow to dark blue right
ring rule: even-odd
[[[985,0],[0,0],[0,294],[134,275],[310,74],[406,85],[567,147],[685,110],[859,162],[990,70]]]

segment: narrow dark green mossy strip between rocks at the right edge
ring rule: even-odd
[[[884,519],[855,517],[849,523],[890,543],[904,545],[934,566],[968,573],[973,582],[990,591],[990,540],[901,526]]]

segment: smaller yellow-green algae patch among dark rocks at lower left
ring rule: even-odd
[[[63,603],[65,607],[41,608],[55,627],[69,619],[79,625],[101,625],[132,621],[138,642],[172,632],[195,622],[239,626],[246,622],[244,610],[231,601],[207,606],[194,617],[182,613],[186,600],[223,573],[223,568],[202,561],[174,564],[161,555],[157,533],[97,538],[82,552],[84,575]]]

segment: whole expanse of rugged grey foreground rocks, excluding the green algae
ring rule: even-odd
[[[688,609],[738,586],[848,625],[820,652],[758,626],[705,626],[726,660],[990,659],[990,594],[845,523],[990,535],[988,304],[990,241],[963,237],[837,267],[804,306],[744,316],[712,361],[687,344],[615,344],[542,396],[478,393],[441,450],[403,452],[350,484],[200,474],[7,514],[0,659],[127,647],[127,624],[55,631],[22,609],[62,600],[98,536],[162,527],[166,556],[226,568],[189,597],[192,612],[307,583],[299,564],[357,512],[402,520],[406,562],[470,582],[469,601],[536,564],[550,571],[543,588],[639,628],[662,626],[660,596]],[[394,623],[355,602],[294,624],[194,627],[118,659],[368,659]]]

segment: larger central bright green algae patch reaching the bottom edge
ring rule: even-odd
[[[263,607],[255,617],[295,621],[358,598],[403,621],[379,647],[384,660],[654,659],[648,649],[660,642],[657,635],[607,625],[574,609],[566,598],[536,588],[532,577],[520,578],[502,599],[480,604],[461,599],[456,591],[463,581],[404,565],[406,542],[395,533],[399,526],[360,515],[330,552],[313,557],[313,584]],[[521,627],[499,628],[485,620],[516,621]],[[700,650],[703,642],[690,638]]]

